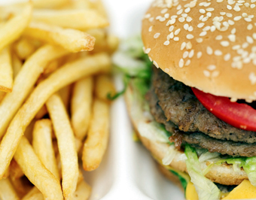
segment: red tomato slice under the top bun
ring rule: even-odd
[[[230,102],[230,98],[211,95],[196,88],[192,90],[201,104],[225,123],[239,129],[256,132],[256,110],[251,106]]]

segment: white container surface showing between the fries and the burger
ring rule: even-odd
[[[139,34],[142,17],[151,0],[103,0],[111,21],[111,32],[120,38]],[[115,80],[122,89],[120,77]],[[184,193],[166,180],[157,170],[150,153],[133,141],[133,128],[127,116],[123,98],[111,109],[111,138],[102,165],[85,173],[93,187],[90,200],[170,200],[184,199]]]

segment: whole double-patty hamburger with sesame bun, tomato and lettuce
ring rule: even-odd
[[[187,199],[256,198],[255,2],[156,0],[142,20],[154,66],[137,56],[127,108]]]

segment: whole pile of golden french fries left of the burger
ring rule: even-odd
[[[0,198],[87,199],[108,145],[111,53],[100,0],[0,7]],[[82,164],[81,164],[82,163]]]

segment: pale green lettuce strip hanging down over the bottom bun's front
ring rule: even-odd
[[[196,187],[200,200],[219,199],[221,191],[215,183],[204,176],[196,150],[193,147],[190,147],[189,144],[186,144],[185,154],[187,156],[187,171],[191,177],[191,182],[194,183],[194,186]]]

